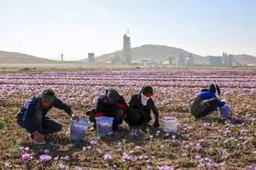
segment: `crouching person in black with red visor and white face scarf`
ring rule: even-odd
[[[129,125],[147,124],[152,120],[151,111],[155,115],[154,126],[159,126],[158,112],[155,108],[152,86],[144,86],[138,94],[133,94],[128,102],[127,115],[124,115],[124,121]]]

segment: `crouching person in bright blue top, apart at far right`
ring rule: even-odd
[[[213,119],[208,117],[210,112],[217,110],[217,107],[224,106],[225,102],[227,102],[226,99],[220,102],[219,95],[220,89],[218,85],[208,85],[189,101],[188,110],[190,114],[206,122],[212,121]]]

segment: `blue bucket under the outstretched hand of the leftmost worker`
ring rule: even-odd
[[[71,118],[70,138],[76,141],[81,141],[89,125],[90,121],[83,118],[80,118],[79,122]]]

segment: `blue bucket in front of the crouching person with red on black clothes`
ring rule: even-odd
[[[108,133],[112,132],[112,117],[96,117],[97,134],[105,137]]]

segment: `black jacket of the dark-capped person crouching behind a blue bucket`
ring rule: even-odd
[[[120,104],[127,105],[122,95],[120,95],[119,101],[115,105],[109,105],[108,103],[105,103],[105,96],[106,95],[101,95],[98,98],[97,104],[95,107],[95,114],[103,113],[105,116],[111,116],[114,111],[116,111],[121,107]]]

